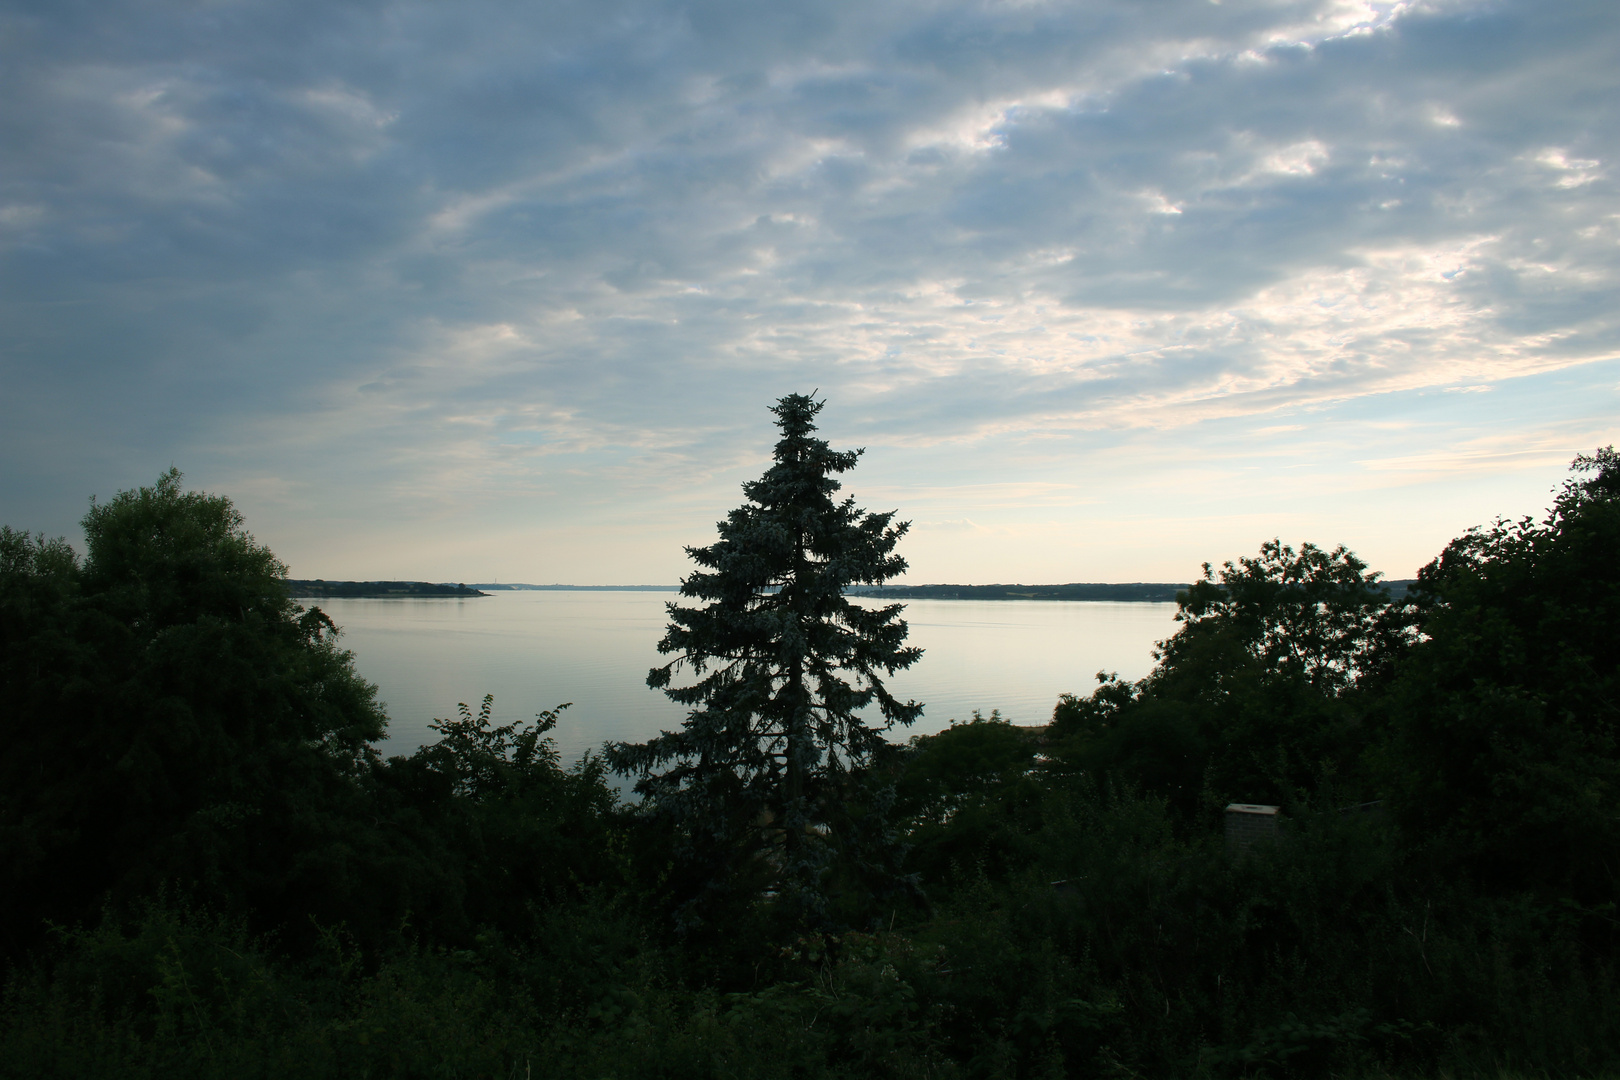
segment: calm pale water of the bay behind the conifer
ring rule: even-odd
[[[496,696],[497,722],[562,701],[565,761],[608,740],[640,742],[679,727],[684,711],[646,688],[661,662],[664,604],[674,593],[496,593],[476,599],[332,599],[319,606],[387,703],[386,753],[410,753],[434,717]],[[1051,717],[1059,693],[1089,693],[1098,670],[1139,678],[1174,604],[1071,601],[910,601],[906,620],[923,657],[889,685],[925,703],[909,733],[936,732],[974,709],[1021,724]],[[899,735],[904,737],[904,735]]]

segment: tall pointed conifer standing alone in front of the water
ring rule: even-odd
[[[680,593],[703,604],[667,606],[658,649],[676,659],[646,678],[688,706],[685,725],[609,748],[680,831],[708,887],[752,866],[812,908],[829,847],[859,832],[844,813],[850,771],[885,746],[885,730],[922,714],[883,683],[922,654],[906,646],[902,606],[844,596],[904,573],[894,547],[907,525],[834,500],[834,478],[862,452],[813,436],[823,405],[794,393],[771,408],[774,463],[744,484],[747,502],[719,523],[719,541],[687,547],[700,570]],[[697,680],[677,687],[682,667]],[[862,716],[868,706],[880,722]]]

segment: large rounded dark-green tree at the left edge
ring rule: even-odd
[[[62,542],[0,539],[0,925],[162,881],[269,910],[329,895],[384,730],[335,627],[228,499],[170,470]]]

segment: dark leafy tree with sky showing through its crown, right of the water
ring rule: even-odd
[[[1354,691],[1408,641],[1379,573],[1343,547],[1268,541],[1179,597],[1181,628],[1139,683],[1100,675],[1066,695],[1055,735],[1090,771],[1121,776],[1192,810],[1217,800],[1288,800],[1328,774],[1364,785],[1364,706]]]

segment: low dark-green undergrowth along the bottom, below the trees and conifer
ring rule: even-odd
[[[787,936],[752,973],[603,897],[530,939],[340,929],[292,962],[157,904],[60,936],[0,1007],[0,1075],[1612,1075],[1620,984],[1580,918],[1403,881],[1369,823],[1233,861],[1162,800],[1048,792],[1032,860],[933,913]],[[1056,882],[1056,884],[1053,884]]]

